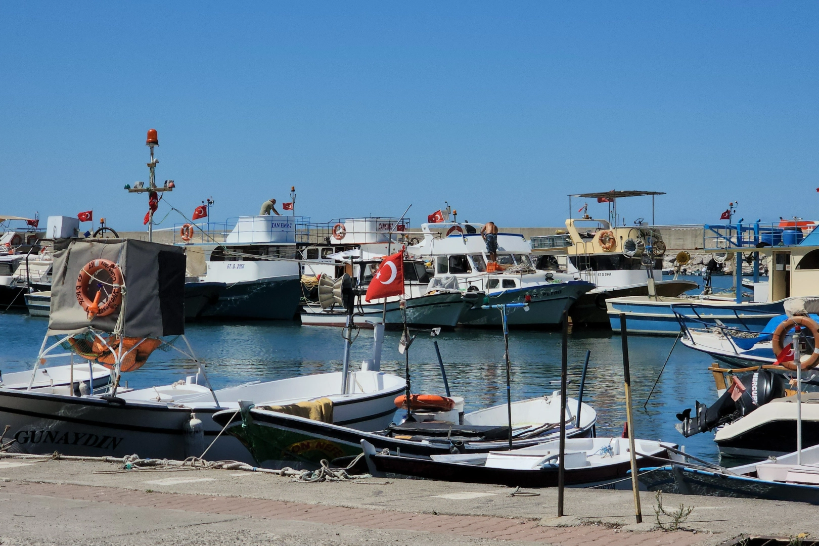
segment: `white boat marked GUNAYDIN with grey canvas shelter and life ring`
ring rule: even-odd
[[[329,396],[348,423],[381,428],[391,418],[385,408],[391,408],[403,380],[374,371],[373,360],[350,374],[346,388],[341,373],[329,373],[213,390],[183,336],[183,248],[133,240],[63,240],[57,243],[55,261],[47,336],[34,370],[21,372],[29,384],[21,389],[25,377],[7,374],[14,383],[0,386],[0,422],[11,426],[8,437],[20,451],[199,457],[220,431],[210,416],[238,410],[238,399],[289,402]],[[197,374],[168,386],[129,389],[120,381],[122,373],[143,365],[156,349],[187,355],[198,363]],[[54,359],[72,363],[40,364]],[[84,370],[88,375],[99,372],[99,363],[115,380],[106,381],[103,392],[86,394],[77,381],[86,379]],[[66,382],[72,373],[73,380]],[[97,379],[94,375],[95,386]],[[247,449],[229,436],[219,437],[209,457],[252,461]]]

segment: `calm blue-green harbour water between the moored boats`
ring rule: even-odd
[[[714,278],[730,285],[729,278]],[[699,280],[700,278],[692,278]],[[46,332],[46,318],[0,313],[0,370],[30,369]],[[216,388],[247,381],[270,381],[297,375],[340,371],[344,341],[340,328],[302,327],[282,321],[241,323],[191,323],[188,340],[197,355],[208,363]],[[399,332],[387,332],[382,352],[382,371],[404,376],[404,355],[398,353]],[[504,404],[504,343],[500,329],[444,332],[437,338],[452,394],[464,396],[467,411]],[[636,434],[640,438],[685,444],[690,453],[718,461],[713,435],[684,438],[674,424],[675,414],[693,408],[695,400],[711,404],[716,398],[710,359],[678,343],[647,408],[643,408],[674,343],[673,337],[629,336],[631,384]],[[372,332],[361,330],[351,351],[360,363],[372,353]],[[591,351],[584,401],[597,410],[598,435],[620,435],[626,420],[620,336],[612,332],[570,331],[568,341],[569,395],[577,396],[583,359]],[[513,399],[551,393],[559,388],[560,332],[511,332]],[[421,334],[409,350],[414,392],[443,393],[432,340]],[[156,351],[148,363],[124,375],[130,387],[168,384],[196,372],[176,351]],[[0,423],[2,425],[2,423]]]

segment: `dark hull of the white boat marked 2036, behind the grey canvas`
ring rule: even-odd
[[[186,305],[188,304],[188,285],[185,283]],[[211,283],[206,283],[211,284]],[[254,281],[236,282],[210,287],[213,293],[194,293],[192,302],[197,305],[205,299],[206,304],[199,309],[196,318],[258,318],[292,320],[296,316],[301,298],[299,278],[260,278]],[[192,318],[188,311],[186,318]]]

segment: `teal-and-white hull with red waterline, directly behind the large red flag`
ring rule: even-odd
[[[468,297],[471,295],[474,297]],[[441,292],[406,300],[406,321],[414,327],[455,328],[466,309],[477,303],[475,292]],[[381,323],[383,304],[360,305],[364,313],[355,315],[355,323],[363,327],[373,327]],[[346,326],[346,314],[337,310],[324,311],[319,305],[305,305],[301,312],[301,323],[305,326]],[[387,302],[387,328],[403,327],[404,317],[398,301]]]

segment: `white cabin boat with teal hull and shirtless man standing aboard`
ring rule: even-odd
[[[594,288],[590,282],[574,280],[571,275],[538,271],[532,250],[523,235],[498,233],[497,263],[489,271],[486,243],[480,235],[481,223],[423,223],[423,239],[407,247],[432,264],[434,278],[452,282],[462,291],[483,292],[492,305],[526,302],[524,310],[509,309],[509,326],[550,327],[560,323],[563,311]],[[460,323],[466,326],[500,326],[495,309],[474,305],[464,311]]]

